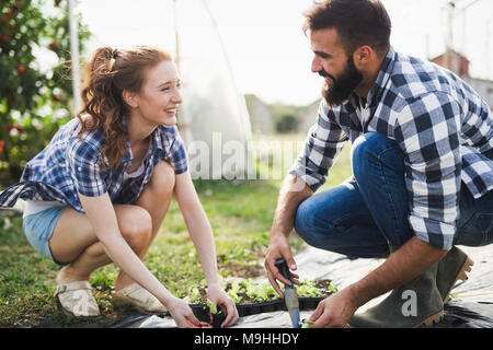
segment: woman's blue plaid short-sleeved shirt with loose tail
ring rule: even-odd
[[[126,118],[123,120],[126,129]],[[133,161],[129,141],[121,166],[103,172],[100,154],[105,138],[102,130],[82,133],[81,142],[77,137],[79,129],[77,118],[62,126],[49,144],[27,163],[21,182],[0,195],[0,207],[12,207],[22,198],[59,201],[84,213],[78,194],[99,197],[107,192],[113,203],[134,203],[159,161],[169,162],[175,174],[187,171],[185,148],[175,127],[159,126],[153,131],[144,160],[145,171],[128,180],[124,180],[124,174]]]

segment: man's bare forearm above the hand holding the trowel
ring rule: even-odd
[[[295,225],[298,206],[311,195],[313,191],[302,179],[296,175],[288,175],[279,190],[271,234],[283,233],[288,236]]]

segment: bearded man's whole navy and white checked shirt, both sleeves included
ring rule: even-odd
[[[367,105],[360,107],[358,101],[353,94],[332,109],[322,101],[290,174],[316,191],[346,141],[365,132],[383,135],[397,141],[405,155],[409,222],[414,234],[450,249],[461,180],[474,198],[493,188],[490,107],[454,73],[392,48]]]

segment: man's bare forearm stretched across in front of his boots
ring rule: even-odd
[[[412,237],[381,266],[347,289],[359,307],[371,299],[411,281],[446,254],[446,250]]]

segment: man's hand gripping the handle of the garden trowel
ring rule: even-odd
[[[296,261],[293,258],[291,248],[289,246],[288,237],[286,237],[283,234],[274,234],[271,235],[271,242],[268,243],[267,252],[265,254],[265,269],[267,271],[267,278],[271,282],[274,290],[284,298],[283,290],[280,289],[279,284],[277,283],[277,280],[285,283],[285,284],[291,284],[289,280],[283,277],[283,275],[279,272],[277,267],[275,266],[275,262],[277,259],[284,258],[289,267],[290,270],[296,270]],[[296,284],[299,284],[299,276],[291,272],[293,281]]]

